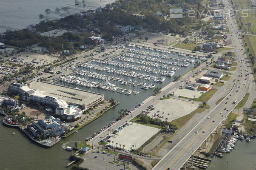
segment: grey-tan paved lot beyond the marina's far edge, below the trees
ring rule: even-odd
[[[167,44],[170,44],[171,42],[175,41],[176,38],[175,37],[171,37],[169,35],[163,35],[163,34],[153,34],[153,33],[144,33],[142,34],[142,40],[145,40],[145,38],[148,38],[148,42],[149,43],[156,43],[157,40],[164,40],[166,41],[167,39]],[[140,36],[137,37],[138,40],[140,40]]]

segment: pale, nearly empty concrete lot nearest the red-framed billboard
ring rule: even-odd
[[[130,124],[119,131],[118,135],[112,135],[110,140],[111,143],[114,141],[114,145],[116,143],[118,143],[118,146],[121,144],[121,147],[125,145],[125,149],[130,150],[132,145],[134,145],[134,149],[137,149],[159,130],[155,127],[133,123],[133,125]]]

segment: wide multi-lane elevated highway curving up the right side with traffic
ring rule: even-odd
[[[233,11],[228,0],[224,0],[225,13]],[[232,15],[227,16],[228,26],[230,28],[231,41],[234,47],[235,54],[237,56],[237,72],[236,75],[243,75],[242,77],[236,77],[236,82],[230,93],[208,113],[204,119],[202,119],[193,129],[174,146],[169,153],[167,153],[161,161],[152,170],[167,170],[168,168],[173,170],[179,170],[188,158],[197,150],[197,148],[208,138],[210,133],[228,116],[228,114],[235,108],[239,101],[246,94],[250,83],[253,81],[252,74],[245,77],[245,74],[250,73],[250,65],[246,64],[245,49],[242,47],[242,40],[239,38],[238,26],[236,25],[235,18]],[[245,60],[240,62],[241,60]],[[248,72],[247,72],[248,71]],[[245,80],[245,78],[247,78]],[[254,82],[253,82],[254,83]],[[254,85],[253,85],[254,87]],[[218,93],[221,93],[218,91]],[[237,100],[235,104],[233,102]],[[227,103],[226,103],[227,102]],[[222,112],[222,114],[220,114]],[[223,116],[222,116],[223,115]],[[208,116],[209,119],[208,119]],[[214,120],[214,122],[213,122]],[[205,130],[205,133],[203,133]],[[198,131],[198,133],[195,133]]]

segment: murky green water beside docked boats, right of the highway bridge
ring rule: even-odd
[[[256,170],[256,139],[238,141],[223,158],[214,156],[207,170]]]

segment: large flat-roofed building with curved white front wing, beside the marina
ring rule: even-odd
[[[104,100],[102,94],[41,81],[31,82],[30,86],[14,83],[10,91],[20,93],[23,100],[51,105],[56,115],[66,119],[77,118]]]

